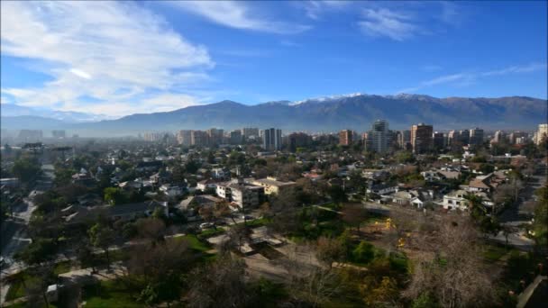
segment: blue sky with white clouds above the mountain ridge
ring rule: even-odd
[[[122,116],[225,99],[547,97],[547,3],[1,2],[1,101]]]

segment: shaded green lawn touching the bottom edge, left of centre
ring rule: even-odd
[[[143,306],[142,303],[137,303],[123,284],[116,280],[85,286],[82,290],[82,301],[86,302],[85,307],[94,308]]]

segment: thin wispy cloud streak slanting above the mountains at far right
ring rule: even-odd
[[[427,87],[437,86],[442,84],[452,84],[453,86],[470,86],[476,79],[480,77],[493,77],[507,74],[519,74],[519,73],[531,73],[539,70],[546,70],[546,63],[532,63],[528,65],[512,66],[502,68],[498,70],[489,70],[475,73],[458,73],[452,75],[444,75],[441,77],[435,77],[433,79],[425,80],[418,86],[407,87],[397,91],[397,94],[401,93],[413,93],[422,90]]]

